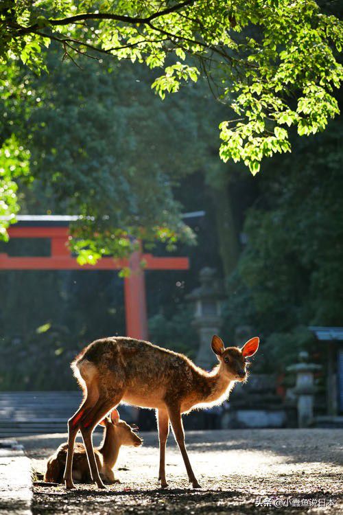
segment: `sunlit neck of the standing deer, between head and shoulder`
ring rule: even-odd
[[[228,398],[235,382],[224,373],[222,365],[217,365],[211,372],[202,371],[196,385],[198,404],[213,406]]]

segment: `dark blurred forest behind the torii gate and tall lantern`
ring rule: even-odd
[[[307,326],[342,325],[340,121],[308,138],[294,135],[292,154],[263,161],[254,177],[218,159],[227,108],[213,102],[204,78],[162,102],[139,65],[106,56],[78,62],[82,69],[50,49],[48,76],[22,70],[25,102],[2,95],[2,137],[15,127],[40,176],[21,183],[21,214],[80,214],[80,196],[84,213],[91,198],[117,220],[161,213],[178,223],[180,213],[202,210],[185,219],[183,240],[152,249],[188,255],[191,268],[146,273],[151,341],[195,356],[185,295],[200,269],[213,266],[226,290],[222,337],[233,342],[241,325],[259,334],[256,370],[283,371],[300,349],[320,360]],[[48,249],[13,240],[0,252]],[[76,387],[68,363],[78,350],[125,332],[122,281],[103,271],[1,272],[0,388]]]

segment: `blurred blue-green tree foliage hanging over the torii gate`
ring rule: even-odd
[[[23,70],[16,76],[29,108],[16,98],[2,106],[31,152],[38,212],[80,215],[71,246],[81,264],[126,257],[138,238],[170,248],[176,239],[191,243],[172,195],[178,177],[198,165],[196,118],[187,104],[158,110],[143,70],[126,63],[113,70],[108,59],[85,59],[80,71],[51,51],[47,65],[44,78]]]

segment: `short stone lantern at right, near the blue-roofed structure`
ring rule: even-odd
[[[287,367],[289,372],[296,373],[296,386],[292,393],[297,397],[298,426],[309,427],[314,422],[314,372],[320,370],[320,365],[308,363],[309,353],[299,352],[299,363]]]

